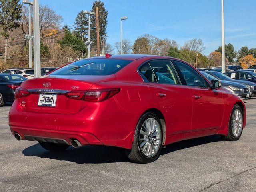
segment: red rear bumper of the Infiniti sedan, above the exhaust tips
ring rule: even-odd
[[[120,112],[114,99],[110,103],[91,103],[96,106],[87,106],[77,114],[27,112],[17,102],[10,109],[9,126],[12,134],[18,133],[22,139],[36,136],[61,139],[68,144],[76,139],[82,145],[132,147],[137,117]]]

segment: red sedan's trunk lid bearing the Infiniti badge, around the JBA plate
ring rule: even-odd
[[[80,111],[82,100],[68,98],[65,92],[85,91],[98,82],[114,80],[115,76],[44,76],[44,78],[30,79],[22,83],[21,87],[30,94],[20,98],[22,108],[28,112],[52,114],[76,114]],[[38,106],[40,94],[55,95],[54,107]]]

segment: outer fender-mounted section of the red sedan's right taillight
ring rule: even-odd
[[[84,94],[84,100],[91,102],[104,101],[120,92],[120,88],[88,90]]]

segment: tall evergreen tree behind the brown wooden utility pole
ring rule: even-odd
[[[106,43],[107,37],[107,17],[108,11],[104,7],[104,3],[102,1],[94,1],[92,4],[92,12],[96,13],[96,7],[98,7],[99,13],[99,29],[100,29],[100,39],[102,41],[102,46]],[[92,44],[92,48],[96,50],[97,48],[97,33],[96,33],[96,15],[91,15],[91,41],[94,42]]]

